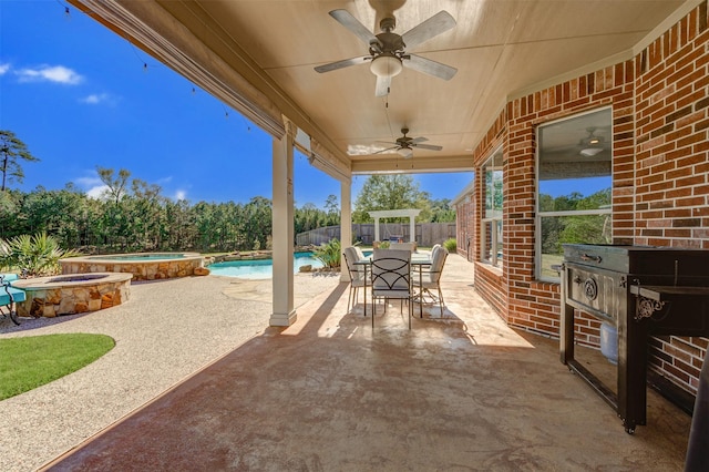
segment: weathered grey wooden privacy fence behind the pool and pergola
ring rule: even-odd
[[[414,240],[419,246],[431,247],[434,244],[442,244],[446,239],[455,239],[455,223],[417,223]],[[381,240],[390,240],[397,237],[409,242],[409,223],[380,223],[379,238]],[[332,238],[340,239],[339,226],[326,226],[322,228],[311,229],[306,233],[296,235],[296,244],[298,246],[319,246]],[[352,242],[361,242],[371,245],[374,240],[373,223],[352,224]]]

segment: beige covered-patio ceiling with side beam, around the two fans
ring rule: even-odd
[[[630,59],[655,29],[698,0],[70,0],[131,38],[198,86],[251,113],[282,113],[353,173],[472,168],[472,148],[512,98]],[[368,63],[314,70],[362,57],[367,45],[328,12],[349,11],[374,33],[393,16],[402,34],[441,10],[456,25],[407,52],[452,65],[450,80],[404,68],[389,95],[374,96]],[[198,73],[197,73],[198,71]],[[248,109],[242,106],[240,111]],[[247,110],[248,112],[248,110]],[[413,158],[374,154],[402,127],[442,151]],[[578,142],[583,136],[569,136]],[[363,153],[353,155],[354,152]]]

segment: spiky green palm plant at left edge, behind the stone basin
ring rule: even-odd
[[[62,249],[59,242],[47,233],[0,239],[0,269],[14,268],[28,276],[58,274],[59,259],[80,255],[74,249]]]

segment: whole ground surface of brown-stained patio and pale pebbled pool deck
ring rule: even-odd
[[[411,330],[398,304],[372,330],[361,306],[347,314],[347,284],[311,275],[296,277],[297,322],[268,328],[269,281],[244,284],[136,284],[129,304],[29,332],[117,343],[2,402],[0,469],[682,470],[687,414],[648,390],[648,424],[627,434],[558,341],[502,322],[460,256],[446,318]]]

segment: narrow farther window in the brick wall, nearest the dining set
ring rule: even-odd
[[[502,264],[502,150],[497,150],[483,164],[485,178],[485,208],[483,211],[481,255],[484,263]]]

